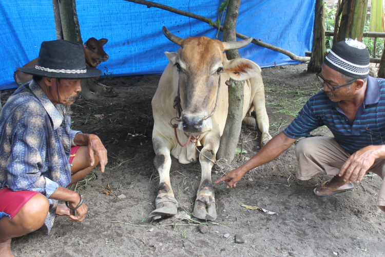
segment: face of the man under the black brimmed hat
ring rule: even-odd
[[[59,81],[56,79],[58,103],[71,105],[78,93],[82,91],[80,81],[80,79],[60,79]]]

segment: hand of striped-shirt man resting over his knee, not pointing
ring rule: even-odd
[[[343,176],[343,181],[353,183],[361,182],[365,173],[373,166],[378,158],[383,158],[382,145],[370,145],[352,154],[342,165],[338,175]]]

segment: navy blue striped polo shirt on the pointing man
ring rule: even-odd
[[[363,104],[359,107],[354,122],[320,91],[303,106],[293,122],[283,133],[290,138],[309,137],[310,132],[327,126],[336,141],[353,154],[368,145],[385,142],[385,79],[368,78]]]

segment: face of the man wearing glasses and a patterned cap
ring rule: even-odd
[[[322,64],[321,76],[325,81],[328,81],[332,86],[336,87],[347,83],[342,79],[340,72],[332,69],[328,65]],[[351,85],[347,85],[334,91],[329,88],[326,83],[323,84],[323,91],[333,102],[339,102],[353,96],[354,82]]]

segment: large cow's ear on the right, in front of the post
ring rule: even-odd
[[[223,69],[233,80],[247,80],[261,73],[261,68],[253,61],[238,58],[227,61]]]

